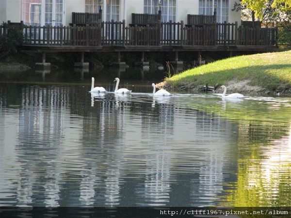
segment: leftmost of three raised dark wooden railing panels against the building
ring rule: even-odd
[[[72,12],[72,25],[94,24],[102,20],[102,12],[99,13],[77,13]]]

